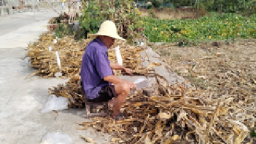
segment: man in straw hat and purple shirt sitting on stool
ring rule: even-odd
[[[86,99],[89,102],[107,102],[115,99],[113,118],[121,118],[120,108],[130,90],[136,89],[136,84],[113,76],[114,70],[124,70],[131,75],[131,69],[117,65],[108,59],[108,49],[115,39],[125,40],[118,36],[115,23],[104,21],[97,34],[86,47],[81,64],[81,80]]]

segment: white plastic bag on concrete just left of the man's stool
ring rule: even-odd
[[[58,111],[58,110],[63,110],[67,108],[68,108],[67,98],[50,95],[41,113],[49,113],[50,111],[53,111],[53,110]]]

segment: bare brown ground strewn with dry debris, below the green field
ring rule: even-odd
[[[175,72],[198,89],[212,90],[212,97],[230,94],[237,100],[248,100],[245,98],[248,96],[250,106],[255,106],[255,39],[230,44],[212,42],[195,47],[174,44],[154,44],[151,47]],[[255,110],[251,112],[255,113]]]

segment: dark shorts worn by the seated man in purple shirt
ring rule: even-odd
[[[81,82],[80,84],[81,84],[82,92],[84,94],[83,83]],[[83,97],[85,98],[86,96],[83,95]],[[113,99],[113,97],[116,97],[115,86],[109,85],[109,86],[104,86],[100,90],[99,97],[95,99],[87,99],[87,101],[88,102],[108,102],[109,100]]]

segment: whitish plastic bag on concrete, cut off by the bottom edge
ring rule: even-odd
[[[44,136],[41,144],[72,144],[72,139],[67,134],[49,132]]]

